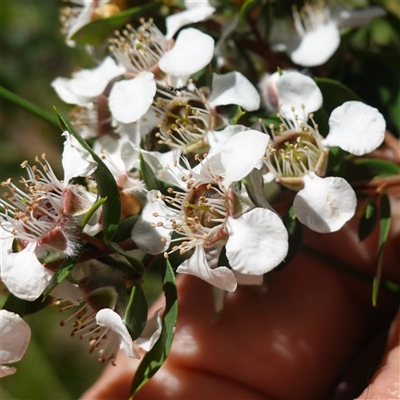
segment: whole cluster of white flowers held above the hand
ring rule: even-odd
[[[329,233],[355,215],[358,193],[345,166],[376,150],[386,130],[382,114],[344,85],[325,80],[324,90],[317,69],[298,69],[324,65],[340,29],[382,16],[380,8],[307,3],[287,15],[292,24],[275,18],[263,37],[254,18],[263,2],[244,31],[240,1],[220,14],[224,2],[154,3],[147,19],[128,2],[62,8],[67,43],[95,55],[93,68],[51,83],[71,105],[69,118],[58,113],[64,177],[43,154],[22,163],[19,184],[1,185],[3,289],[73,310],[61,325],[113,364],[119,350],[140,358],[138,346],[149,351],[162,329],[173,334],[160,316],[171,307],[147,315],[142,285],[154,262],[165,265],[164,283],[182,273],[211,284],[220,311],[221,293],[263,285],[288,263],[288,225]],[[129,13],[130,23],[106,32]],[[95,48],[98,21],[107,21],[108,37]],[[255,54],[244,66],[248,49]],[[343,101],[330,107],[336,89]],[[4,363],[18,361],[30,337],[12,311],[6,302]],[[2,366],[2,376],[12,372]]]

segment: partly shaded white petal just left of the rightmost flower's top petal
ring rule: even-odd
[[[208,104],[211,107],[237,104],[247,111],[255,111],[260,108],[260,95],[240,72],[232,71],[224,75],[214,73]]]

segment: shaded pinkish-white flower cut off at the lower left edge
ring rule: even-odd
[[[29,325],[18,315],[0,310],[0,378],[15,373],[8,365],[21,360],[31,339]]]

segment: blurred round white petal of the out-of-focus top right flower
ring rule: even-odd
[[[294,63],[303,67],[315,67],[328,61],[339,44],[339,29],[334,22],[329,22],[307,32],[299,44],[288,43],[288,51]]]

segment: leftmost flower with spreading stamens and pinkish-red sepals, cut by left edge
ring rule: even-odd
[[[51,272],[42,260],[72,256],[79,247],[79,223],[95,200],[70,179],[90,175],[97,167],[68,132],[64,143],[64,180],[59,181],[43,154],[39,164],[22,167],[28,179],[20,181],[24,189],[11,179],[2,183],[8,188],[0,199],[1,279],[8,290],[25,300],[35,300],[46,287]],[[14,245],[17,252],[14,252]]]

